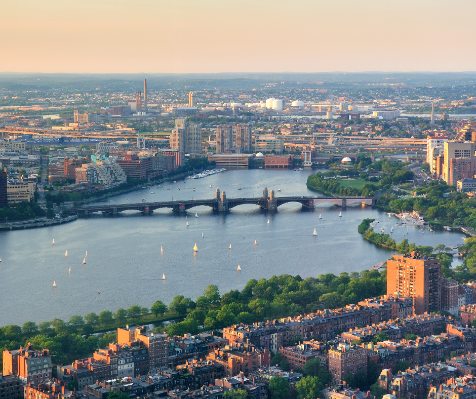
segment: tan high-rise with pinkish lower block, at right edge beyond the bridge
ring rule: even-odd
[[[470,141],[447,141],[444,144],[443,180],[450,186],[456,186],[458,180],[474,177],[476,174],[474,143]]]

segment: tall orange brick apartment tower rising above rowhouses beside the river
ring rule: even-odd
[[[441,309],[441,263],[412,252],[387,260],[387,294],[413,298],[413,313]]]

